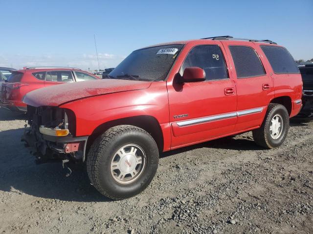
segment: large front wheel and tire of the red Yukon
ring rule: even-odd
[[[142,192],[158,166],[158,148],[149,133],[132,125],[108,129],[90,147],[87,172],[92,185],[114,200]]]

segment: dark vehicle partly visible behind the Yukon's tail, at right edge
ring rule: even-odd
[[[300,65],[299,70],[303,82],[303,106],[295,119],[310,121],[313,119],[313,63]]]

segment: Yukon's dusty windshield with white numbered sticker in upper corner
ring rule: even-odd
[[[108,78],[144,81],[164,80],[183,45],[162,45],[135,50]]]

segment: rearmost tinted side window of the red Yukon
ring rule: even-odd
[[[286,48],[261,45],[261,49],[268,58],[268,61],[272,66],[274,73],[299,73],[298,67],[295,64],[294,59]]]

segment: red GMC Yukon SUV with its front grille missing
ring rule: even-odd
[[[91,184],[123,199],[149,185],[160,152],[247,131],[279,147],[301,96],[291,54],[270,40],[164,43],[135,50],[107,79],[28,93],[23,140],[38,163],[86,161]]]

